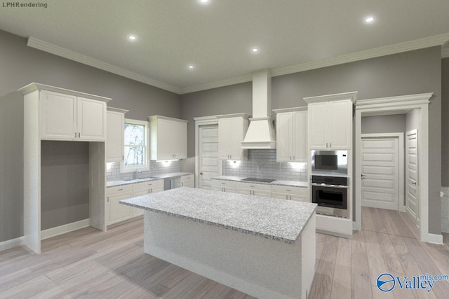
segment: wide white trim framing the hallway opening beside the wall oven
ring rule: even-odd
[[[402,95],[398,97],[384,97],[378,99],[362,99],[356,101],[355,122],[355,221],[354,230],[361,230],[361,119],[362,116],[384,116],[391,114],[403,114],[412,109],[419,110],[418,132],[418,159],[420,171],[418,173],[421,183],[420,195],[420,239],[423,242],[443,242],[443,235],[429,233],[429,103],[434,98],[434,93],[422,93],[417,95]]]

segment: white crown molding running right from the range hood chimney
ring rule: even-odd
[[[424,39],[415,39],[413,41],[406,41],[404,43],[396,43],[390,46],[373,48],[347,55],[336,57],[329,57],[322,60],[315,60],[312,62],[305,62],[296,64],[290,67],[282,67],[279,69],[272,69],[271,74],[274,76],[282,76],[287,74],[299,73],[300,71],[309,71],[311,69],[320,69],[321,67],[332,67],[333,65],[344,64],[348,62],[356,62],[359,60],[367,60],[370,58],[392,55],[397,53],[408,52],[412,50],[419,50],[430,48],[434,46],[442,46],[449,40],[448,34],[439,34],[436,36],[429,36]]]

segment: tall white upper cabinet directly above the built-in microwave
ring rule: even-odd
[[[341,150],[352,147],[352,103],[356,92],[308,97],[309,148]]]

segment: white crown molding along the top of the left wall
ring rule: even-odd
[[[41,41],[40,39],[36,39],[32,36],[29,36],[27,41],[27,46],[31,48],[35,48],[38,50],[42,50],[47,53],[51,53],[54,55],[58,55],[60,57],[67,58],[69,60],[74,60],[76,62],[80,62],[82,64],[86,64],[90,67],[95,67],[97,69],[102,69],[103,71],[109,71],[109,73],[116,74],[119,76],[123,76],[126,78],[133,79],[135,81],[139,81],[148,85],[152,85],[156,88],[161,88],[163,90],[168,90],[170,92],[175,92],[178,95],[180,94],[180,88],[177,88],[172,85],[168,85],[166,83],[156,81],[152,78],[148,78],[139,74],[135,74],[132,71],[127,71],[126,69],[122,69],[120,67],[116,67],[107,62],[102,62],[100,60],[96,60],[94,58],[88,57],[86,55],[82,55],[80,53],[76,53],[72,50],[67,50],[66,48],[62,48],[60,46],[53,45],[53,43],[48,43],[46,41]]]

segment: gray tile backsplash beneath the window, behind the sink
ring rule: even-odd
[[[139,179],[145,179],[157,174],[181,172],[181,161],[149,161],[149,170],[139,173]],[[134,179],[134,172],[120,173],[120,162],[106,163],[106,180],[118,181]]]

